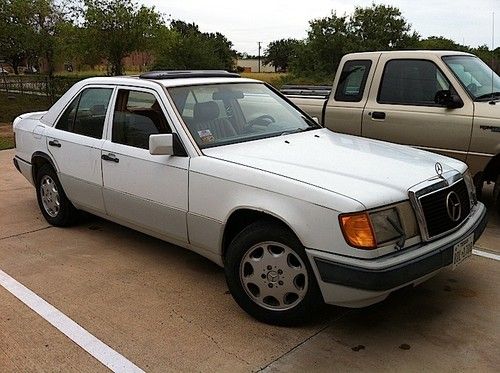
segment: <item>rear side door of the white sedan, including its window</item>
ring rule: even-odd
[[[87,86],[46,129],[47,147],[68,198],[76,207],[104,212],[101,148],[113,87]]]

